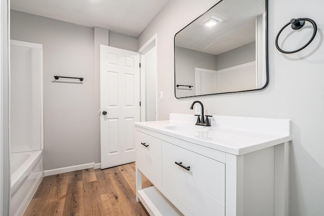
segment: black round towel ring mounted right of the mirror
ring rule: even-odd
[[[285,51],[285,50],[282,50],[280,49],[279,45],[278,45],[278,38],[279,38],[279,35],[280,33],[282,32],[282,30],[284,30],[287,26],[289,26],[290,24],[292,25],[292,29],[294,30],[298,30],[300,28],[302,28],[304,25],[305,25],[305,21],[308,21],[310,22],[312,25],[313,25],[313,28],[314,28],[314,32],[313,32],[313,35],[312,37],[310,38],[310,40],[302,47],[300,47],[299,49],[296,49],[294,51]],[[305,48],[306,46],[308,46],[312,40],[314,39],[315,35],[316,35],[316,32],[317,32],[317,26],[316,26],[316,23],[309,19],[309,18],[298,18],[298,19],[292,19],[289,23],[287,23],[284,27],[282,27],[280,29],[280,31],[278,32],[276,38],[275,38],[275,46],[277,47],[277,49],[280,51],[280,52],[283,52],[283,53],[286,53],[286,54],[290,54],[290,53],[295,53],[295,52],[298,52],[300,50],[302,50],[303,48]]]

